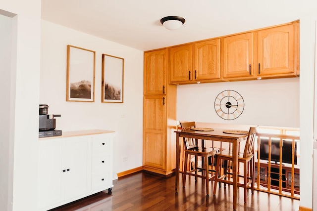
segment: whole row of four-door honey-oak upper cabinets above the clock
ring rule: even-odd
[[[168,47],[169,84],[299,76],[299,22]]]

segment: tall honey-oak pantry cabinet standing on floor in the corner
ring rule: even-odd
[[[144,53],[143,169],[175,169],[176,85],[167,84],[167,48]]]

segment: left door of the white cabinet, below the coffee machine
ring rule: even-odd
[[[62,139],[39,143],[38,208],[45,208],[62,200]]]

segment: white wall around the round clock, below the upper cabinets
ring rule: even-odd
[[[235,120],[221,119],[214,109],[215,98],[227,89],[244,100],[244,110]],[[178,85],[177,120],[299,127],[299,78]]]

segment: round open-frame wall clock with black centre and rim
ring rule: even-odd
[[[214,100],[214,110],[224,120],[237,119],[243,112],[244,100],[234,90],[220,92]]]

